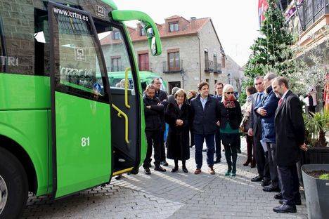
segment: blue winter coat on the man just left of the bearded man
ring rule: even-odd
[[[276,114],[276,108],[278,107],[278,101],[280,98],[276,97],[276,94],[272,91],[272,86],[266,89],[267,95],[263,98],[262,102],[254,107],[254,112],[257,113],[258,108],[266,110],[266,116],[262,117],[262,140],[264,142],[276,142],[276,128],[274,126],[274,117]]]

